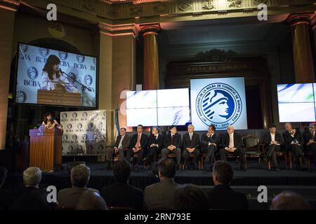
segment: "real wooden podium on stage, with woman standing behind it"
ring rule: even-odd
[[[29,130],[29,167],[39,167],[42,171],[62,167],[62,130]]]

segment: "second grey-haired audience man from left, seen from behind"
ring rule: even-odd
[[[90,179],[90,168],[86,165],[81,164],[72,167],[70,176],[72,188],[66,188],[58,191],[58,207],[75,209],[78,205],[82,193],[84,193],[86,190],[94,190],[98,194],[100,194],[98,190],[86,187]]]

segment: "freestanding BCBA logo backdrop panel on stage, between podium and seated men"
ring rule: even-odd
[[[105,160],[106,111],[68,111],[60,113],[62,155],[98,156]]]

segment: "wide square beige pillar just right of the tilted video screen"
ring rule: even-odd
[[[126,90],[136,87],[136,36],[134,24],[99,23],[99,109],[107,110],[107,146],[114,144],[115,110],[119,126],[126,127]],[[131,129],[129,130],[131,131]]]

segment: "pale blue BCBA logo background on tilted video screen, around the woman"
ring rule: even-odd
[[[25,43],[19,43],[18,51],[15,102],[37,104],[38,90],[51,90],[51,87],[47,87],[46,85],[48,78],[45,76],[43,69],[48,61],[48,57],[55,55],[54,57],[60,60],[59,68],[64,72],[60,76],[60,81],[69,83],[65,85],[67,91],[79,92],[81,95],[81,102],[79,99],[78,106],[96,107],[96,57],[40,48]],[[83,91],[81,88],[82,85],[74,80],[85,85],[88,89],[85,88]],[[67,104],[56,103],[56,100],[52,101],[51,104],[69,106]]]

